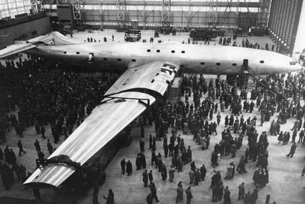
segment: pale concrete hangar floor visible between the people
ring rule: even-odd
[[[74,39],[77,40],[86,40],[87,37],[93,37],[96,39],[100,39],[106,36],[111,39],[111,35],[115,35],[116,41],[123,41],[123,33],[117,33],[113,30],[105,30],[104,32],[95,32],[95,33],[77,33],[73,35]],[[149,40],[151,36],[153,36],[153,31],[144,31],[142,34],[142,38],[146,38]],[[187,40],[188,34],[182,33],[177,34],[176,36],[172,35],[160,35],[160,38],[164,41],[170,39],[171,41],[178,41],[182,42],[184,39]],[[264,45],[268,42],[269,46],[271,47],[272,41],[266,37],[254,37],[249,36],[248,39],[252,42],[259,42],[261,45]],[[242,38],[238,38],[238,44],[241,42]],[[215,39],[215,43],[218,43],[218,39]],[[211,43],[212,44],[212,43]],[[205,76],[209,79],[211,76]],[[214,77],[214,76],[213,76]],[[204,96],[203,98],[205,98]],[[192,97],[191,97],[192,98]],[[190,98],[190,99],[191,99]],[[184,99],[182,98],[184,101]],[[219,103],[219,100],[215,102]],[[304,104],[304,100],[302,100],[302,104]],[[218,104],[219,106],[219,104]],[[210,165],[211,153],[212,148],[215,143],[218,143],[221,139],[220,133],[224,129],[224,117],[226,115],[231,114],[229,110],[225,110],[224,113],[221,113],[221,122],[217,128],[218,136],[211,136],[211,144],[210,149],[201,150],[200,146],[197,145],[192,140],[192,135],[183,135],[181,131],[178,134],[181,134],[182,138],[185,141],[185,146],[190,145],[192,152],[193,152],[193,160],[195,161],[196,167],[199,168],[202,164],[205,164],[207,168],[207,176],[206,181],[202,181],[199,183],[199,186],[191,186],[191,191],[193,194],[194,199],[192,200],[192,204],[211,204],[212,200],[212,189],[210,189],[211,184],[211,177],[213,175],[213,168]],[[278,113],[272,117],[271,121],[276,118]],[[253,113],[244,113],[244,118],[256,116],[258,121],[260,119],[259,112],[257,108],[254,109]],[[215,120],[215,115],[214,119]],[[295,119],[289,119],[287,124],[281,126],[281,130],[283,131],[290,131],[291,127],[293,126]],[[258,123],[259,124],[259,123]],[[256,129],[261,134],[262,131],[269,132],[271,122],[264,123],[263,127],[257,126]],[[136,125],[134,125],[135,127]],[[170,129],[171,130],[171,129]],[[170,132],[169,130],[169,132]],[[291,131],[290,131],[291,132]],[[147,158],[147,163],[150,164],[151,160],[151,151],[148,149],[148,136],[154,134],[154,128],[151,126],[145,127],[145,138],[144,141],[145,145],[145,154]],[[48,128],[46,132],[47,138],[52,138],[51,131]],[[170,136],[170,135],[168,135]],[[236,134],[237,136],[237,134]],[[27,151],[26,154],[19,157],[17,155],[17,163],[23,164],[26,166],[28,171],[33,171],[35,167],[34,159],[37,157],[37,153],[34,148],[34,140],[38,138],[40,142],[40,146],[42,151],[48,156],[47,147],[46,147],[46,140],[42,139],[41,136],[35,135],[35,130],[33,127],[28,128],[24,133],[24,138],[22,138],[22,143],[24,145],[25,150]],[[266,196],[269,194],[271,195],[271,201],[276,202],[276,204],[304,204],[305,203],[305,177],[301,177],[301,171],[305,166],[305,146],[298,144],[296,154],[293,158],[287,158],[286,154],[289,152],[291,143],[288,145],[281,145],[277,143],[277,136],[268,136],[269,139],[269,183],[266,187],[260,189],[258,193],[258,200],[257,204],[265,204]],[[6,145],[11,147],[15,153],[18,153],[17,141],[19,136],[16,135],[14,131],[11,131],[7,136],[7,142],[0,144],[2,149],[5,148]],[[107,196],[108,189],[113,189],[115,194],[115,203],[116,204],[144,204],[146,203],[145,199],[147,194],[149,193],[149,188],[145,188],[142,182],[142,172],[143,170],[135,170],[135,159],[136,154],[139,152],[139,139],[140,139],[140,129],[138,127],[133,128],[132,130],[132,143],[128,147],[122,148],[113,161],[110,163],[106,170],[107,179],[103,186],[100,187],[99,190],[99,202],[106,203],[106,201],[102,198],[102,196]],[[298,139],[298,137],[297,137]],[[62,141],[62,138],[61,138]],[[244,155],[244,150],[247,147],[246,145],[247,137],[244,138],[244,144],[237,151],[236,158],[233,159],[235,164],[238,164],[239,158]],[[161,155],[164,154],[162,148],[162,141],[156,142],[156,153],[160,152]],[[53,144],[54,147],[58,145]],[[131,176],[122,175],[120,161],[122,158],[125,160],[130,160],[133,164],[133,173]],[[169,167],[171,163],[171,158],[162,158],[163,162],[166,164],[166,167]],[[216,170],[220,170],[222,178],[225,176],[226,167],[231,162],[230,156],[222,157],[220,161],[220,166],[216,168]],[[231,201],[232,204],[242,204],[242,201],[238,201],[238,185],[241,182],[245,183],[245,190],[253,191],[254,184],[252,181],[253,172],[256,169],[255,163],[249,162],[246,164],[247,173],[245,174],[236,174],[233,180],[224,180],[224,186],[229,186],[231,191]],[[177,183],[179,181],[183,182],[183,188],[188,186],[189,178],[188,172],[190,170],[189,165],[183,167],[183,171],[179,173],[175,173],[174,182],[163,181],[161,179],[160,173],[154,169],[154,167],[148,165],[148,170],[153,171],[154,183],[157,188],[157,195],[160,200],[160,204],[174,204],[176,198],[176,189]],[[40,192],[41,197],[43,200],[53,201],[56,203],[62,204],[69,204],[72,198],[75,198],[78,204],[91,204],[92,203],[92,190],[91,192],[84,197],[79,195],[67,194],[63,192],[53,191],[51,189],[44,189]],[[8,197],[16,197],[16,198],[24,198],[24,199],[34,199],[33,193],[31,189],[25,189],[24,186],[20,182],[15,182],[12,186],[11,190],[5,191],[3,186],[0,185],[0,197],[1,196],[8,196]],[[185,202],[185,193],[184,193],[184,200],[181,203]],[[223,202],[223,201],[222,201]],[[222,203],[220,202],[220,203]]]

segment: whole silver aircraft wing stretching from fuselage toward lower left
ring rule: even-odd
[[[83,165],[157,97],[164,95],[177,71],[178,67],[169,62],[128,68],[106,92],[101,104],[48,159],[66,155]],[[63,163],[48,164],[35,170],[24,184],[58,187],[74,171],[74,167]]]

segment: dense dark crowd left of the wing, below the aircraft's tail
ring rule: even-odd
[[[12,129],[19,137],[16,147],[19,156],[26,154],[23,147],[24,131],[34,127],[37,138],[45,139],[47,149],[33,142],[39,160],[52,154],[56,143],[66,139],[100,102],[103,93],[116,81],[103,75],[89,75],[79,70],[53,64],[41,58],[28,57],[7,60],[0,64],[0,143],[7,141]],[[47,138],[51,129],[53,139]],[[23,163],[22,157],[18,160]],[[19,163],[19,162],[18,162]],[[0,148],[0,174],[4,189],[30,176],[23,164],[18,164],[14,150],[6,145]],[[35,191],[36,198],[40,196]]]

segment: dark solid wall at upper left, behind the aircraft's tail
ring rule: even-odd
[[[15,40],[28,40],[51,31],[49,17],[44,13],[11,19],[0,25],[0,49]]]

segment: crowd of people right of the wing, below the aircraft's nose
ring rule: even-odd
[[[185,101],[180,101],[178,104],[172,105],[168,102],[158,102],[151,112],[144,113],[141,117],[143,121],[149,120],[155,123],[156,138],[150,135],[149,149],[152,149],[152,164],[155,162],[156,169],[161,172],[162,180],[167,178],[167,167],[162,163],[161,153],[155,155],[155,142],[156,140],[163,140],[164,157],[172,157],[172,163],[169,167],[169,181],[173,182],[175,178],[174,174],[178,171],[183,171],[183,166],[190,164],[189,175],[189,187],[185,190],[187,203],[190,202],[193,195],[191,193],[191,185],[198,185],[200,181],[205,180],[206,168],[203,165],[202,168],[196,168],[194,161],[192,161],[192,153],[190,146],[185,148],[185,143],[179,131],[185,135],[192,134],[194,143],[202,145],[204,148],[209,148],[210,138],[212,135],[217,135],[217,127],[221,122],[221,116],[218,111],[224,112],[225,109],[232,111],[232,115],[227,115],[222,121],[224,122],[225,129],[221,133],[221,140],[216,143],[211,155],[211,165],[216,168],[220,163],[220,158],[224,158],[231,155],[231,158],[236,157],[236,151],[241,148],[242,145],[247,145],[244,156],[239,159],[237,168],[232,161],[227,168],[227,172],[224,176],[225,179],[230,180],[234,178],[236,171],[239,173],[247,173],[246,164],[253,162],[257,167],[257,170],[253,173],[253,192],[245,193],[244,183],[239,188],[239,200],[243,199],[244,204],[255,204],[258,199],[258,191],[260,188],[266,186],[269,182],[269,170],[268,170],[268,146],[269,140],[267,131],[261,132],[259,135],[256,130],[258,121],[260,125],[266,121],[271,122],[270,135],[282,134],[280,128],[281,125],[287,122],[289,118],[296,118],[297,121],[293,131],[300,131],[302,128],[300,120],[304,117],[303,109],[300,105],[301,96],[304,96],[302,77],[304,73],[300,71],[295,76],[288,75],[284,79],[281,75],[268,76],[267,81],[270,87],[267,90],[253,89],[251,91],[250,100],[246,100],[244,96],[244,90],[241,90],[238,94],[238,89],[233,85],[229,86],[225,81],[220,81],[219,78],[210,80],[207,83],[206,79],[200,75],[199,80],[197,75],[191,75],[190,77],[184,77],[181,94],[184,96]],[[213,84],[215,83],[215,85]],[[296,86],[297,84],[297,86]],[[281,85],[282,87],[278,87]],[[207,97],[202,100],[203,95],[207,94]],[[193,97],[192,103],[188,98]],[[290,98],[290,100],[288,99]],[[304,98],[304,97],[303,97]],[[219,103],[216,100],[219,99]],[[244,100],[244,105],[242,105]],[[255,102],[255,103],[254,103]],[[218,104],[220,110],[218,110]],[[254,108],[260,112],[261,117],[255,116],[244,118],[243,114],[246,112],[252,112]],[[218,112],[218,114],[217,114]],[[277,119],[274,118],[275,112],[278,112]],[[281,117],[283,113],[288,113],[285,116],[286,121],[282,122]],[[216,115],[217,114],[217,115]],[[216,117],[214,117],[216,115]],[[219,115],[219,116],[218,116]],[[213,121],[213,119],[216,121]],[[146,123],[145,123],[146,125]],[[171,129],[170,129],[171,128]],[[171,131],[170,131],[171,130]],[[168,134],[170,136],[170,142],[167,143]],[[234,134],[239,134],[238,137],[234,137]],[[247,143],[244,144],[244,137],[247,136]],[[296,134],[295,134],[296,136]],[[296,144],[295,136],[292,139],[292,147],[290,153],[287,156],[293,156],[295,153]],[[303,143],[304,130],[300,131],[299,142]],[[162,139],[163,138],[163,139]],[[176,143],[177,141],[177,143]],[[289,138],[288,140],[289,141]],[[140,143],[143,141],[140,141]],[[141,146],[141,145],[140,145]],[[140,147],[141,149],[141,147]],[[143,153],[143,148],[141,149]],[[178,159],[178,162],[177,162]],[[149,167],[147,167],[149,168]],[[145,169],[145,168],[144,168]],[[225,204],[231,204],[229,187],[224,187],[221,181],[220,171],[215,171],[212,176],[211,188],[213,193],[212,202],[220,201],[223,197]],[[142,181],[144,186],[148,186],[148,182],[153,183],[152,170],[147,173],[147,169],[143,172]],[[153,183],[153,189],[155,184]],[[186,192],[187,191],[187,192]],[[182,182],[178,182],[176,203],[183,200],[183,185]],[[191,196],[190,196],[191,195]],[[147,203],[152,203],[152,198],[156,198],[156,193],[152,190],[147,196]],[[158,201],[158,199],[156,199]]]

